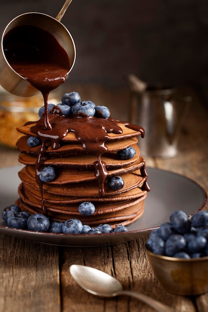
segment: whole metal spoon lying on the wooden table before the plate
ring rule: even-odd
[[[148,304],[159,312],[174,310],[159,301],[132,291],[123,291],[121,283],[114,277],[97,269],[82,265],[71,265],[69,272],[76,283],[88,293],[100,297],[131,296]]]

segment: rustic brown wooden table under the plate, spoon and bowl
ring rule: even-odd
[[[67,91],[74,90],[83,99],[110,107],[113,117],[127,119],[128,89],[75,84]],[[208,192],[208,111],[197,93],[189,90],[189,94],[193,103],[181,132],[178,155],[169,159],[147,157],[146,162],[148,166],[194,179]],[[17,156],[17,151],[1,147],[0,167],[18,164]],[[128,297],[100,299],[87,294],[72,280],[71,264],[84,264],[112,274],[125,289],[142,292],[176,311],[208,311],[208,294],[182,297],[163,289],[147,260],[145,242],[146,239],[138,239],[112,246],[58,247],[1,234],[0,312],[154,311]]]

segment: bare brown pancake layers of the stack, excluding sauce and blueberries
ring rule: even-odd
[[[79,120],[77,119],[77,122]],[[88,120],[86,118],[86,124]],[[44,166],[55,168],[56,178],[42,183],[40,189],[36,170],[41,147],[31,148],[27,145],[28,137],[36,136],[32,130],[36,123],[17,128],[17,131],[23,134],[17,141],[20,151],[19,162],[25,165],[19,172],[21,184],[18,188],[19,199],[16,202],[21,210],[32,214],[42,213],[44,204],[51,220],[65,221],[76,218],[90,226],[108,223],[113,228],[118,224],[128,225],[140,218],[144,212],[144,199],[149,190],[145,161],[140,156],[137,145],[137,137],[142,133],[139,127],[127,126],[113,119],[109,122],[116,123],[121,131],[119,134],[106,133],[105,153],[100,156],[101,163],[105,164],[106,168],[102,194],[98,181],[99,174],[96,174],[95,169],[97,152],[87,150],[85,143],[81,142],[74,132],[68,132],[56,149],[52,149],[48,142],[45,144],[42,163]],[[90,125],[88,129],[89,127]],[[127,160],[119,159],[117,151],[127,147],[133,147],[136,155]],[[112,176],[122,177],[123,188],[112,190],[108,186],[108,178]],[[84,201],[94,204],[96,209],[92,215],[82,215],[78,211],[78,206]]]

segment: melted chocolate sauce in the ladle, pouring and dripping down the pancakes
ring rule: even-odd
[[[88,117],[84,114],[68,118],[59,115],[57,108],[52,115],[48,116],[48,94],[65,81],[70,68],[66,51],[49,32],[30,25],[17,26],[5,35],[3,45],[5,56],[12,68],[39,90],[44,98],[44,117],[31,127],[31,132],[42,142],[36,160],[36,181],[40,188],[43,212],[47,214],[43,199],[43,183],[39,179],[39,174],[44,165],[45,152],[48,145],[51,149],[57,150],[68,132],[74,133],[87,153],[96,156],[95,175],[99,184],[99,195],[104,196],[107,170],[101,156],[108,150],[105,145],[109,140],[108,134],[122,134],[118,121],[112,118]],[[142,127],[129,123],[123,124],[127,128],[140,131],[141,136],[144,137]],[[144,177],[147,177],[145,167],[141,172]],[[145,182],[144,185],[148,190],[148,184]]]

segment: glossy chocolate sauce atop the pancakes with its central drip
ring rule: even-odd
[[[106,164],[101,161],[101,156],[108,151],[105,143],[109,140],[108,133],[122,134],[121,127],[113,118],[102,119],[95,117],[85,117],[82,115],[74,118],[66,118],[52,114],[49,116],[51,130],[48,131],[43,127],[43,120],[40,119],[31,132],[41,138],[44,142],[50,141],[51,149],[57,150],[60,147],[62,139],[68,132],[73,132],[77,140],[87,153],[91,153],[97,157],[94,162],[95,176],[99,184],[99,195],[104,196],[104,181],[107,176]]]

